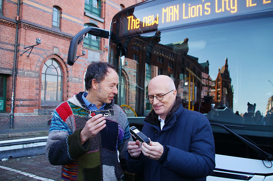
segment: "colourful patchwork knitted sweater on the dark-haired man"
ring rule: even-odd
[[[121,180],[118,157],[124,160],[127,143],[132,141],[126,114],[114,101],[106,104],[105,109],[114,109],[114,115],[106,117],[106,127],[81,145],[80,132],[90,119],[82,93],[55,109],[46,143],[48,160],[63,165],[64,181]]]

